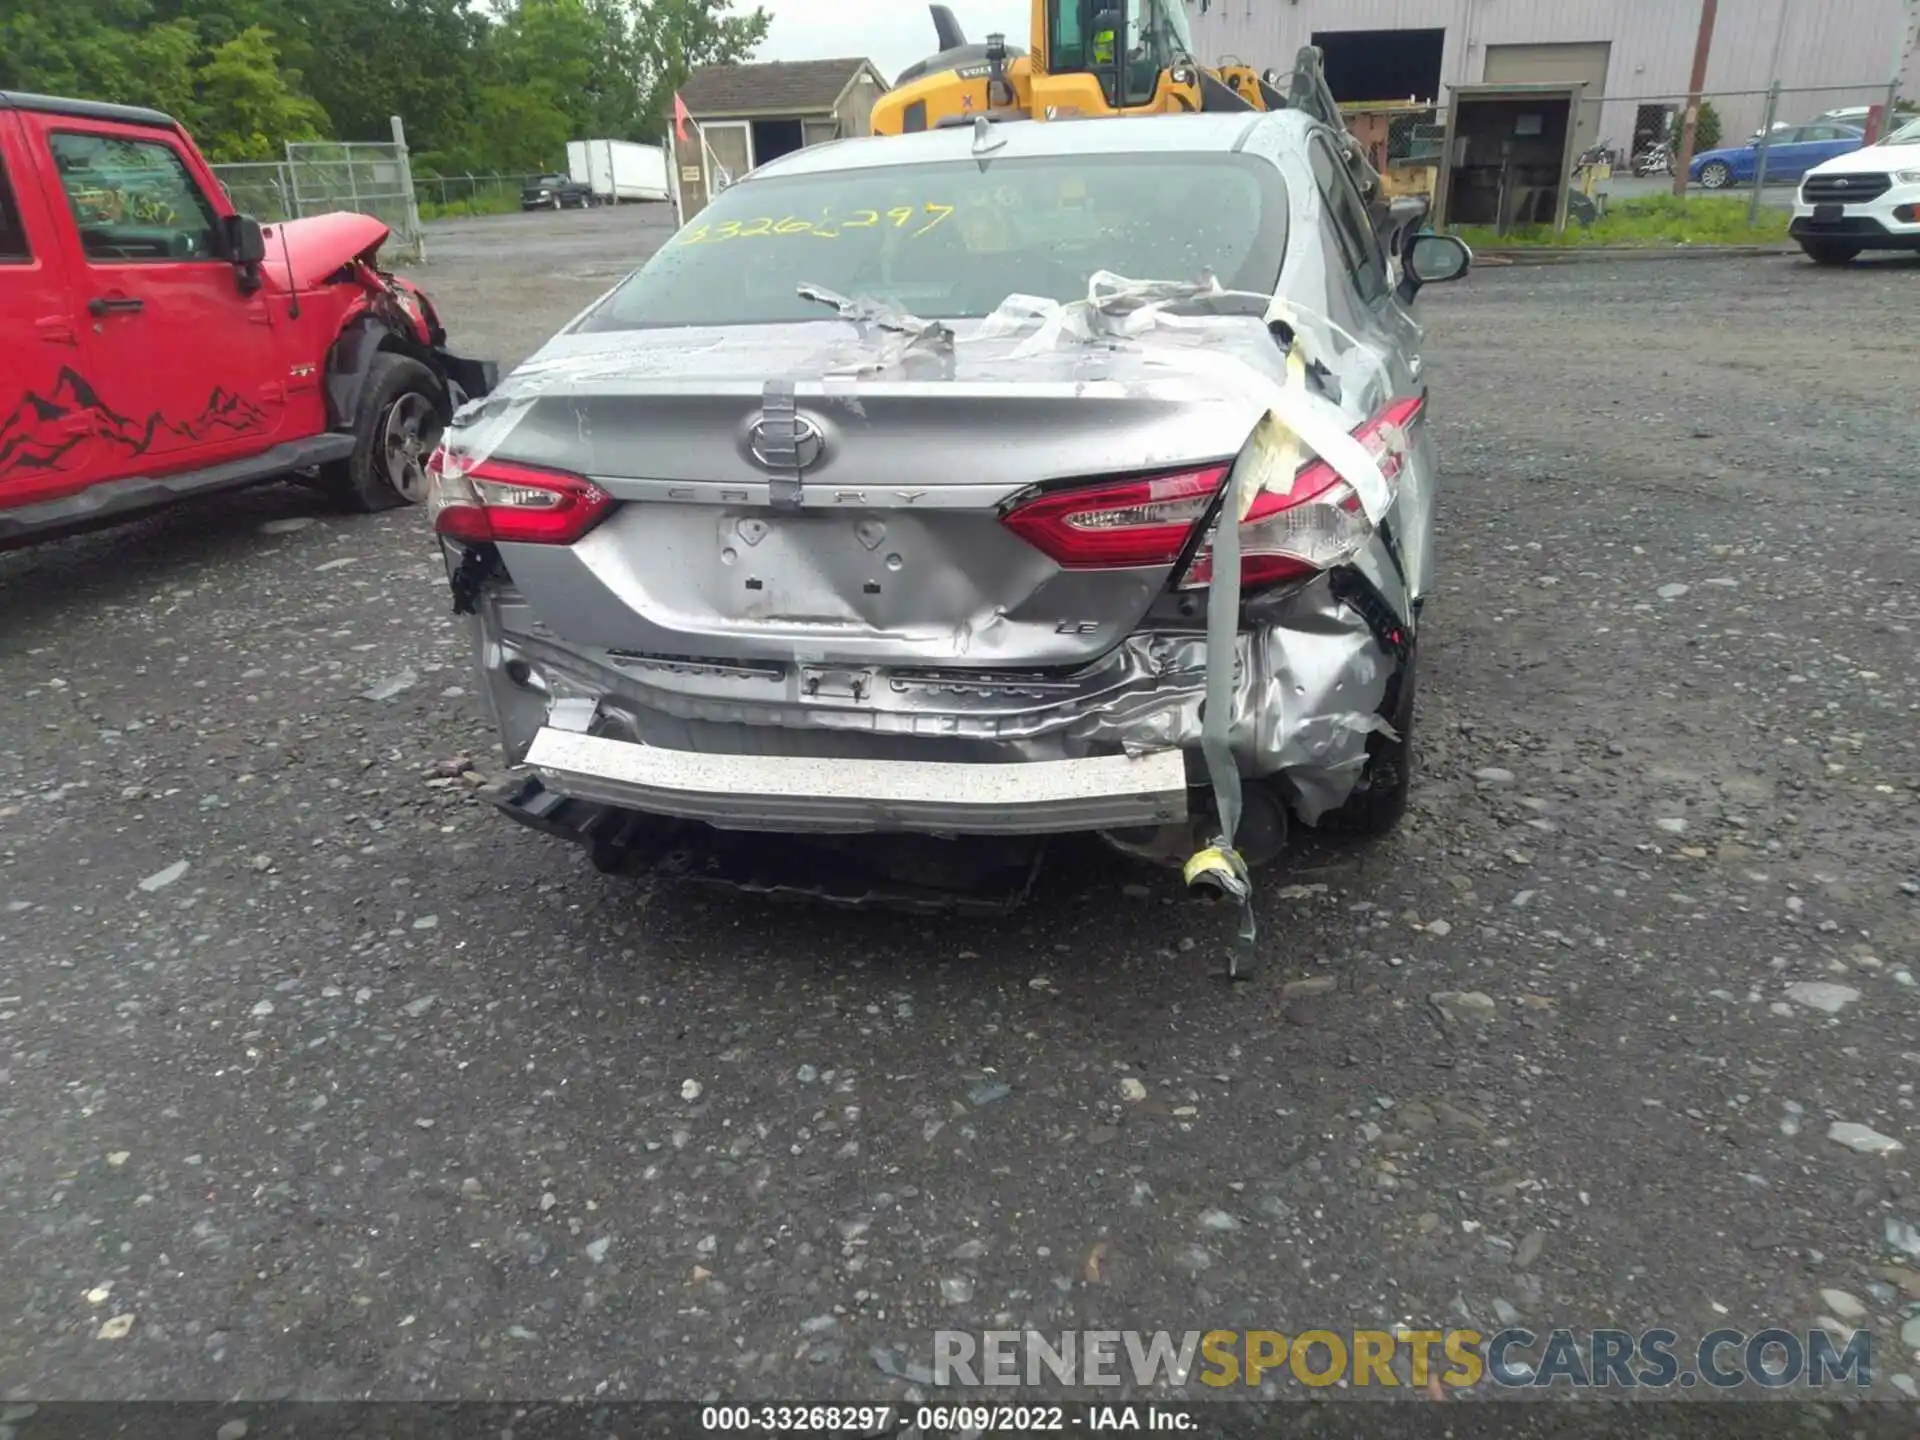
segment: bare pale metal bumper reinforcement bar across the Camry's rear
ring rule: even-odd
[[[1179,751],[924,764],[701,755],[543,726],[526,764],[563,795],[720,828],[1050,835],[1187,818]]]

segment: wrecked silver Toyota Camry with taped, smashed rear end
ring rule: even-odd
[[[1377,213],[1284,109],[724,190],[434,457],[524,766],[495,803],[843,900],[979,889],[929,877],[952,837],[1031,877],[1066,831],[1244,899],[1290,816],[1392,826],[1434,553],[1407,303],[1471,257]]]

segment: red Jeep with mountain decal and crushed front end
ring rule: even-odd
[[[0,90],[0,549],[307,474],[417,505],[495,367],[449,355],[388,228],[261,228],[152,109]]]

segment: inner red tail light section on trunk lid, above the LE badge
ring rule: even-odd
[[[1225,465],[1062,490],[1008,511],[1004,524],[1066,570],[1173,564],[1227,480]]]

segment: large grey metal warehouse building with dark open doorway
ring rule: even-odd
[[[1292,69],[1304,44],[1327,52],[1342,102],[1446,104],[1448,84],[1586,81],[1578,148],[1626,150],[1665,106],[1684,102],[1699,0],[1187,0],[1202,63]],[[1920,0],[1718,0],[1705,94],[1728,142],[1759,129],[1772,83],[1776,119],[1885,104],[1920,90]],[[1845,88],[1824,88],[1845,86]]]

